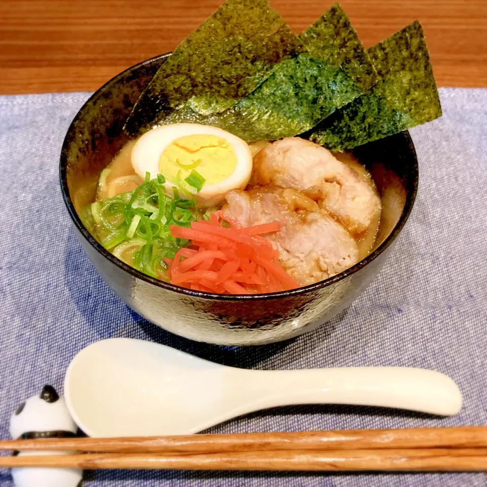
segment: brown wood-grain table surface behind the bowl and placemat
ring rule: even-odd
[[[296,32],[331,4],[270,0]],[[222,0],[0,0],[0,94],[92,91],[174,49]],[[365,47],[419,19],[439,86],[487,87],[487,0],[342,0]]]

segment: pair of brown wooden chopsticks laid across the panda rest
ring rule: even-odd
[[[0,467],[189,470],[487,470],[487,427],[0,441]]]

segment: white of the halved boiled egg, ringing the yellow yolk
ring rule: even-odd
[[[131,154],[132,167],[142,179],[145,179],[146,172],[150,173],[151,179],[156,178],[159,173],[159,161],[165,149],[179,137],[197,134],[224,138],[232,147],[237,159],[235,170],[225,180],[215,184],[204,184],[201,191],[195,195],[182,195],[186,198],[195,198],[196,203],[200,205],[213,206],[223,201],[228,191],[244,189],[252,174],[252,152],[249,145],[221,128],[196,123],[175,123],[154,128],[135,143]],[[166,194],[171,197],[172,186],[169,182],[164,184]]]

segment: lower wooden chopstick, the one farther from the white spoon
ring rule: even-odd
[[[0,467],[184,470],[485,471],[487,448],[229,451],[165,455],[96,453],[0,457]]]

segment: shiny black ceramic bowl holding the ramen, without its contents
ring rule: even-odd
[[[103,249],[80,214],[94,200],[101,170],[128,141],[124,121],[167,56],[137,64],[102,86],[67,131],[60,161],[61,190],[89,259],[136,312],[193,340],[257,345],[285,340],[327,322],[377,275],[409,216],[418,187],[418,161],[409,134],[393,135],[355,151],[372,174],[383,211],[373,252],[345,272],[304,288],[258,296],[201,293],[160,282]]]

